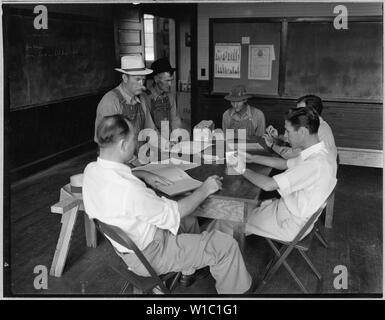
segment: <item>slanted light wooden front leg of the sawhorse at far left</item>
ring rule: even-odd
[[[76,217],[79,211],[78,209],[79,206],[76,206],[75,208],[71,209],[62,216],[62,226],[60,230],[59,240],[57,242],[55,255],[52,260],[51,270],[49,272],[51,276],[60,277],[63,273],[64,265],[68,255],[68,250],[70,247],[72,231],[74,229]]]

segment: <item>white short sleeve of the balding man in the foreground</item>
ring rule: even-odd
[[[170,230],[177,234],[180,224],[180,214],[176,201],[159,197],[153,190],[143,187],[135,192],[135,200],[127,203],[128,214],[134,214],[138,220]],[[128,194],[127,194],[128,197]],[[129,196],[132,199],[132,195]]]

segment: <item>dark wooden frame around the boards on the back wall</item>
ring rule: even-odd
[[[333,23],[335,16],[324,17],[274,17],[274,18],[210,18],[209,19],[209,94],[208,96],[224,97],[227,93],[214,92],[214,41],[213,41],[213,25],[215,23],[263,23],[263,22],[281,22],[281,41],[279,54],[279,71],[278,71],[278,94],[277,95],[263,95],[252,94],[256,98],[269,99],[289,99],[296,100],[298,97],[285,94],[285,76],[287,63],[287,39],[288,29],[293,23],[309,23],[309,22],[330,22]],[[383,23],[383,16],[349,16],[349,22],[381,22]],[[368,99],[368,98],[334,98],[325,97],[324,101],[335,102],[352,102],[352,103],[382,103],[383,100]]]

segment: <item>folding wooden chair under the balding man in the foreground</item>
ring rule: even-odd
[[[97,219],[94,219],[94,223],[97,229],[103,234],[105,239],[110,244],[111,242],[106,236],[108,236],[110,239],[114,240],[115,242],[119,243],[121,246],[126,247],[129,250],[133,250],[136,256],[139,258],[139,260],[147,269],[148,273],[150,274],[149,277],[139,276],[136,273],[128,270],[127,265],[124,263],[124,261],[122,259],[119,259],[120,263],[124,265],[123,268],[119,268],[119,269],[123,271],[120,271],[118,268],[112,265],[111,265],[111,268],[115,272],[120,274],[122,277],[128,280],[126,281],[121,293],[124,293],[126,291],[130,283],[134,286],[135,294],[142,294],[142,293],[151,294],[155,287],[158,287],[161,290],[161,292],[164,294],[169,294],[172,292],[173,289],[175,289],[176,284],[181,275],[180,272],[169,272],[164,275],[158,275],[155,272],[155,270],[151,267],[150,263],[145,258],[143,253],[136,246],[136,244],[120,228],[105,224]],[[112,244],[111,246],[113,247]],[[167,285],[167,283],[171,283],[171,284]]]

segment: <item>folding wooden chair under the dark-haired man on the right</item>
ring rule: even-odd
[[[332,200],[334,197],[334,190],[331,192],[327,200],[323,203],[321,208],[317,210],[306,222],[306,224],[303,226],[303,228],[299,231],[297,236],[294,238],[291,242],[285,242],[280,241],[277,239],[271,239],[266,238],[267,243],[270,245],[270,247],[273,249],[276,257],[273,258],[266,267],[266,272],[264,274],[264,277],[262,278],[262,281],[260,285],[258,286],[255,293],[260,293],[263,289],[263,287],[266,285],[266,283],[273,277],[273,275],[277,272],[277,270],[281,267],[281,265],[284,265],[286,270],[289,272],[289,274],[292,276],[292,278],[295,280],[295,282],[298,284],[298,286],[301,288],[303,293],[309,293],[309,291],[306,289],[306,287],[303,285],[301,280],[297,277],[297,275],[294,273],[293,269],[290,267],[290,265],[287,263],[286,259],[292,253],[294,249],[298,250],[300,255],[303,257],[303,259],[306,261],[306,263],[309,265],[311,270],[314,272],[316,277],[318,278],[318,284],[322,281],[322,275],[319,273],[317,268],[314,266],[314,264],[311,262],[310,258],[306,254],[306,251],[309,250],[312,239],[314,236],[322,243],[322,245],[325,248],[328,248],[328,244],[326,240],[322,237],[321,233],[319,232],[319,228],[317,226],[317,220],[319,216],[322,214],[323,210],[326,208],[326,205],[329,203],[329,201]],[[306,231],[313,225],[313,229],[310,231],[310,233],[302,239],[303,235],[306,233]],[[302,240],[301,240],[302,239]],[[281,247],[278,249],[278,247],[274,243],[281,244]]]

